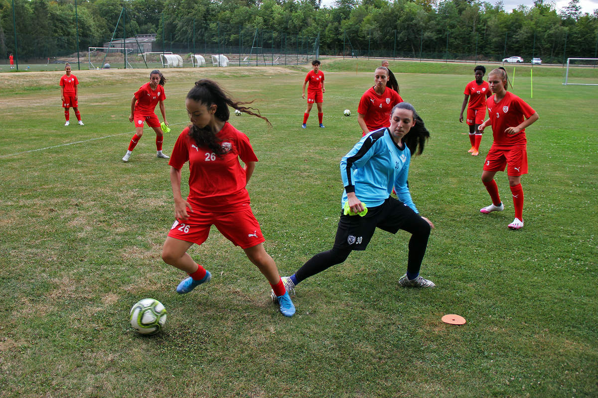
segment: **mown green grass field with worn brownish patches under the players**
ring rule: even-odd
[[[300,128],[307,66],[164,71],[166,153],[198,78],[256,98],[270,119],[272,128],[231,116],[260,158],[248,189],[283,275],[332,245],[338,162],[361,138],[356,107],[375,65],[324,62],[325,129],[315,112]],[[151,129],[121,161],[147,70],[74,72],[84,127],[63,126],[62,72],[0,74],[0,397],[597,396],[598,88],[534,75],[530,98],[529,73],[517,67],[513,91],[540,119],[527,129],[525,227],[511,231],[505,173],[505,211],[479,212],[490,203],[480,181],[490,129],[473,157],[458,122],[472,66],[443,65],[398,73],[403,64],[390,64],[432,133],[409,181],[436,226],[422,275],[437,288],[398,288],[408,234],[379,231],[367,251],[302,282],[290,319],[216,230],[190,250],[212,281],[176,294],[184,275],[160,258],[173,221],[168,166]],[[154,337],[128,322],[145,297],[169,311]],[[468,322],[447,325],[447,313]]]

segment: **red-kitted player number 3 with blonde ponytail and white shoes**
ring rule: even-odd
[[[520,229],[523,227],[521,175],[527,174],[525,128],[537,121],[539,116],[525,101],[507,91],[507,82],[507,71],[503,67],[493,69],[488,75],[490,90],[494,95],[486,102],[489,119],[478,127],[478,131],[484,132],[486,126],[492,125],[494,140],[484,161],[482,172],[482,182],[490,194],[492,204],[481,208],[480,211],[488,214],[504,210],[505,206],[498,195],[494,175],[497,171],[504,171],[506,166],[515,207],[515,220],[508,227]]]

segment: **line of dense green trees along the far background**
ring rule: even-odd
[[[123,8],[124,32],[122,22],[117,27]],[[582,14],[579,0],[558,12],[544,0],[516,10],[473,0],[337,0],[332,7],[321,7],[321,0],[0,0],[0,57],[16,52],[15,30],[23,59],[102,47],[123,33],[155,33],[157,47],[175,52],[301,48],[413,58],[533,55],[553,62],[598,54],[598,10]]]

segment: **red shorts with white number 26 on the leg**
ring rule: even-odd
[[[168,236],[201,245],[208,239],[212,225],[234,243],[243,249],[251,248],[264,242],[260,223],[255,219],[251,207],[235,212],[188,212],[187,221],[176,220]]]

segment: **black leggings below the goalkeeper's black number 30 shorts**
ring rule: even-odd
[[[402,228],[411,233],[407,257],[407,271],[410,273],[419,273],[419,269],[422,267],[423,255],[426,253],[426,247],[428,246],[428,237],[430,236],[429,224],[423,218],[420,218],[420,221]],[[329,267],[343,263],[351,252],[351,249],[332,248],[318,253],[295,272],[295,277],[297,277],[298,282],[301,282],[301,280],[320,273]]]

